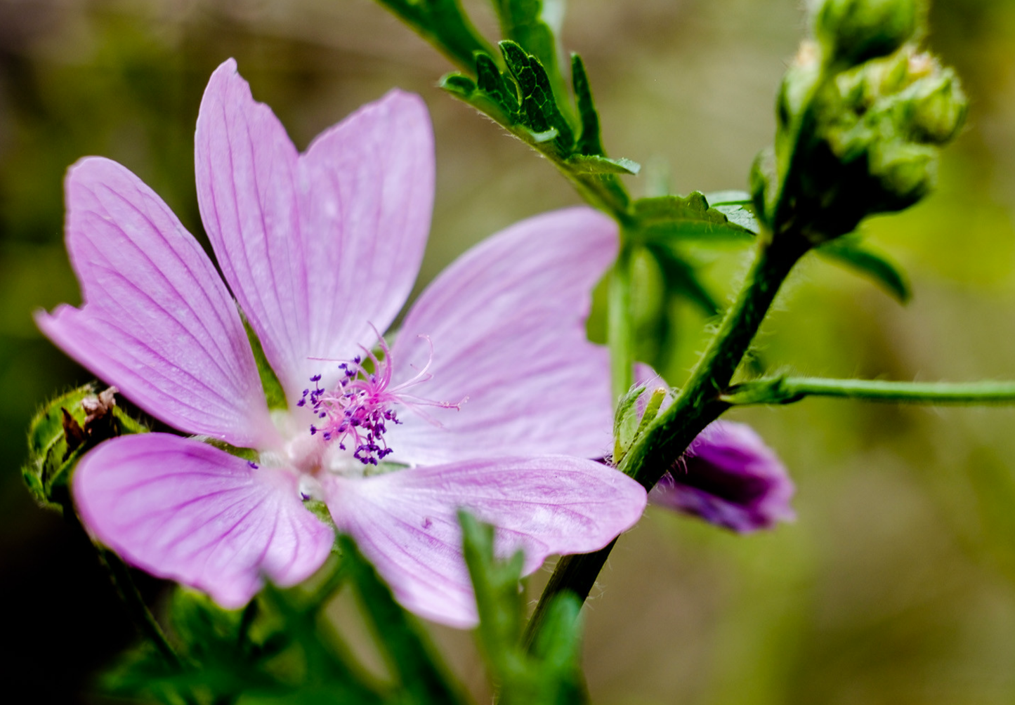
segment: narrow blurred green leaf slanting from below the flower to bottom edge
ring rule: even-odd
[[[374,626],[378,645],[414,703],[458,703],[461,696],[450,685],[443,666],[433,658],[433,649],[415,620],[395,602],[391,588],[378,576],[347,536],[339,538],[343,569],[355,586],[356,594]],[[406,701],[402,701],[406,702]]]

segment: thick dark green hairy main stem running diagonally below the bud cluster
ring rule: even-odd
[[[780,286],[809,248],[804,237],[792,232],[773,241],[759,239],[757,258],[743,288],[687,384],[620,464],[619,469],[641,483],[646,490],[651,490],[694,437],[729,408],[720,398],[720,391],[729,385]],[[595,553],[561,557],[529,621],[527,643],[531,643],[539,630],[554,595],[570,590],[583,601],[589,596],[615,543],[616,540]]]

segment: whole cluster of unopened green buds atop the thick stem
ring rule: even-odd
[[[915,0],[826,0],[783,81],[773,153],[753,174],[755,202],[814,242],[867,215],[911,206],[934,186],[939,147],[967,101],[951,69],[920,53]],[[781,187],[781,188],[779,188]]]

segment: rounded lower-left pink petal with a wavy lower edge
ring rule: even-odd
[[[289,472],[163,433],[103,443],[74,473],[85,526],[131,565],[245,605],[263,576],[292,585],[331,551],[331,527],[308,511]]]

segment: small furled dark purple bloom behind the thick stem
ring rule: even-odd
[[[747,424],[709,424],[663,476],[650,501],[740,534],[796,518],[786,467]]]

